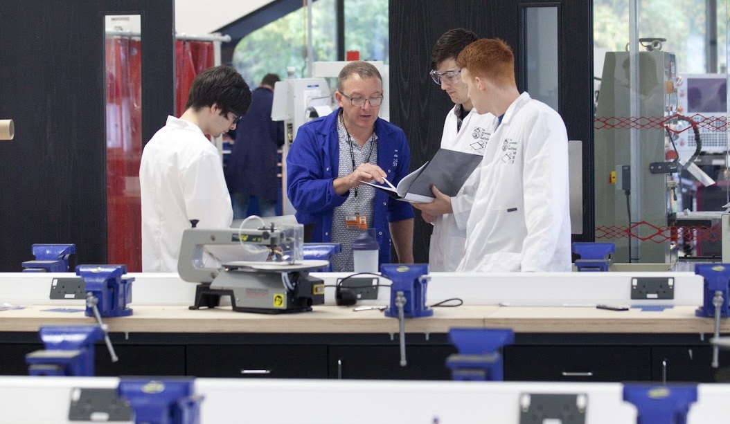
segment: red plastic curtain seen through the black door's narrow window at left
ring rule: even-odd
[[[107,261],[142,271],[142,51],[137,39],[107,39]]]

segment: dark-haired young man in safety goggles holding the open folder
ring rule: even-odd
[[[446,31],[439,37],[431,53],[431,78],[454,103],[446,115],[441,148],[481,155],[496,125],[496,117],[490,113],[478,114],[474,110],[472,101],[466,95],[466,84],[459,78],[461,69],[456,66],[456,58],[461,50],[475,41],[477,34],[467,29]],[[474,202],[475,177],[472,174],[472,178],[466,181],[455,197],[441,195],[438,187],[434,187],[434,194],[437,195],[434,203],[413,204],[420,209],[421,217],[434,225],[429,248],[431,271],[454,272],[464,257],[466,219]]]

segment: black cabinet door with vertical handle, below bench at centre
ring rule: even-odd
[[[329,377],[384,380],[450,380],[446,358],[456,353],[449,345],[406,346],[406,366],[400,348],[388,346],[331,346]]]

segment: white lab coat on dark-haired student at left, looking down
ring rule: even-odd
[[[177,272],[183,230],[228,228],[233,220],[218,149],[199,127],[167,117],[145,146],[139,165],[142,189],[142,271]],[[220,267],[209,251],[204,266]]]

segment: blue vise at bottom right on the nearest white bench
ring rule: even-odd
[[[638,409],[637,424],[686,424],[697,387],[691,385],[623,385],[623,400]]]

